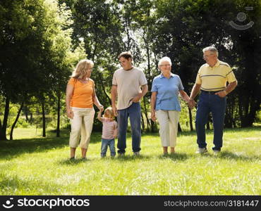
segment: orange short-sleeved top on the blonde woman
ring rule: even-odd
[[[89,79],[86,84],[83,84],[78,79],[71,78],[68,81],[68,84],[71,84],[73,89],[73,96],[71,98],[71,107],[76,108],[92,108],[92,93],[93,88],[95,87],[95,82],[92,79]]]

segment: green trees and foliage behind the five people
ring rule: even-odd
[[[254,21],[248,30],[235,30],[239,11]],[[159,75],[157,61],[172,60],[189,94],[202,60],[202,48],[214,45],[219,58],[233,67],[238,87],[228,96],[225,127],[248,127],[260,121],[261,3],[219,0],[18,0],[0,2],[0,139],[6,139],[9,106],[25,103],[32,113],[55,117],[59,130],[64,116],[66,83],[78,60],[95,62],[92,79],[99,101],[110,106],[111,80],[119,68],[117,56],[130,50],[142,68],[149,90]],[[143,131],[157,131],[150,121],[150,91],[141,101]],[[182,103],[181,125],[192,122]],[[63,115],[60,115],[60,112]],[[30,116],[30,117],[28,117]],[[66,123],[67,124],[67,123]],[[23,124],[26,125],[26,124]],[[101,124],[95,121],[95,129]]]

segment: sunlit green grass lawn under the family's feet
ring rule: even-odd
[[[195,132],[183,132],[176,155],[163,157],[159,135],[142,134],[140,157],[133,158],[128,136],[126,157],[114,159],[100,158],[101,134],[93,133],[88,159],[73,162],[68,132],[43,139],[35,129],[16,129],[19,140],[0,141],[0,195],[260,195],[260,129],[225,130],[218,157],[212,131],[206,155],[195,154]]]

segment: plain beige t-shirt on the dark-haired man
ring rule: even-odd
[[[120,68],[114,72],[112,84],[117,86],[117,109],[121,110],[130,107],[133,103],[131,100],[141,93],[140,87],[147,84],[147,79],[139,68]]]

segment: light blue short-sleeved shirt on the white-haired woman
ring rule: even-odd
[[[156,110],[181,111],[178,101],[178,91],[183,90],[181,79],[178,75],[171,73],[169,79],[162,74],[154,77],[152,91],[157,91]]]

